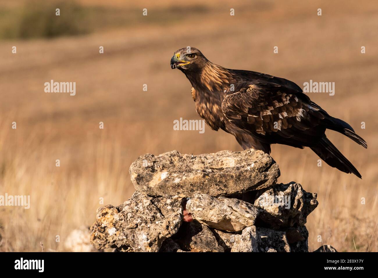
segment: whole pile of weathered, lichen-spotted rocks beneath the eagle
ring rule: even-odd
[[[276,162],[253,149],[145,154],[130,166],[135,193],[98,208],[90,241],[116,252],[308,252],[316,193],[276,184],[279,175]]]

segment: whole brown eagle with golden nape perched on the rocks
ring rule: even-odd
[[[196,48],[175,52],[171,67],[181,70],[192,84],[197,113],[213,130],[235,136],[244,148],[270,153],[270,144],[310,147],[328,165],[361,175],[325,136],[335,130],[367,148],[346,122],[312,102],[287,79],[231,70],[211,63]]]

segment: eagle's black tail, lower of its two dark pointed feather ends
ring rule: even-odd
[[[325,134],[316,146],[311,147],[311,150],[318,154],[318,156],[328,165],[345,173],[353,173],[361,179],[361,174],[358,173],[353,164],[350,163],[350,161],[342,155],[342,153],[331,143],[331,141],[328,140]]]

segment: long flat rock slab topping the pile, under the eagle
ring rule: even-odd
[[[263,151],[220,151],[181,154],[178,151],[140,156],[130,166],[136,188],[152,196],[191,197],[198,193],[226,196],[270,187],[279,177],[276,162]]]

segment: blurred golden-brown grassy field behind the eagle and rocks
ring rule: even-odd
[[[119,205],[132,195],[128,170],[142,154],[242,150],[207,126],[203,134],[173,130],[180,117],[199,119],[189,81],[169,65],[175,50],[193,46],[226,68],[301,87],[335,82],[334,96],[309,96],[367,141],[365,150],[327,133],[363,179],[318,167],[309,149],[273,145],[271,156],[279,182],[318,193],[306,225],[310,251],[331,244],[363,252],[372,240],[377,252],[377,29],[375,0],[0,0],[0,195],[31,196],[29,209],[0,207],[0,250],[75,250],[65,242],[95,222],[101,198]],[[76,95],[45,93],[51,79],[76,82]]]

